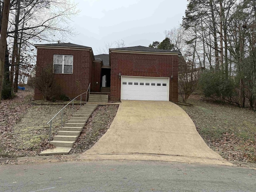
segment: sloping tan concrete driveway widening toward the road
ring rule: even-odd
[[[227,164],[206,145],[188,114],[165,101],[122,100],[108,131],[81,158]]]

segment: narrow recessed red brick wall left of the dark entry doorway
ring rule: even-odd
[[[92,66],[92,92],[100,92],[100,79],[101,79],[101,66],[102,63],[94,62]],[[96,84],[98,82],[98,84]]]

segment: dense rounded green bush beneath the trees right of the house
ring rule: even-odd
[[[206,97],[219,99],[231,97],[234,94],[234,81],[226,78],[221,71],[205,70],[199,79],[199,86]]]

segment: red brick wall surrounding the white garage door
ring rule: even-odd
[[[118,74],[125,76],[171,77],[170,101],[178,102],[178,56],[110,53],[111,86],[110,100],[118,101],[121,96],[121,80]],[[146,66],[146,67],[143,67]]]

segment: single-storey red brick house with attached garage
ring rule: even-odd
[[[61,94],[108,94],[109,100],[178,101],[180,52],[144,46],[114,48],[94,55],[92,48],[71,43],[37,44],[37,70],[52,66]],[[35,99],[42,94],[35,88]]]

